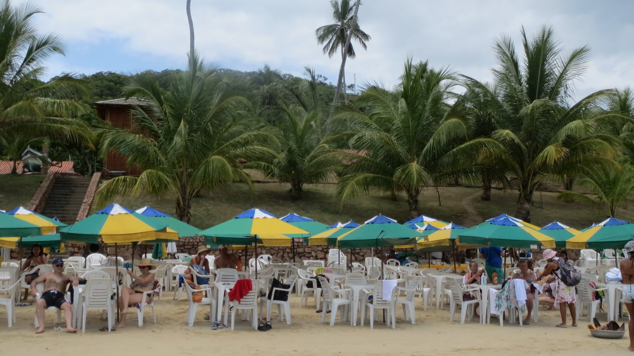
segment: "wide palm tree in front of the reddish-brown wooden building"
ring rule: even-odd
[[[190,53],[188,69],[168,93],[152,78],[131,80],[127,97],[144,103],[133,110],[138,131],[108,127],[98,134],[102,155],[119,150],[143,173],[108,180],[97,192],[97,204],[117,195],[176,195],[176,215],[188,222],[199,192],[233,181],[252,188],[240,162],[269,153],[254,144],[264,133],[240,111],[248,101],[215,73]]]

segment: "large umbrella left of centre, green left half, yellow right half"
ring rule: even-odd
[[[213,242],[239,246],[253,245],[254,258],[257,259],[257,244],[268,247],[291,246],[292,239],[288,235],[304,237],[310,233],[281,221],[275,215],[262,209],[249,209],[231,220],[203,230],[201,235],[205,236],[207,244]]]

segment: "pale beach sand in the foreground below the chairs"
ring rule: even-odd
[[[474,320],[460,324],[450,322],[449,307],[427,311],[417,301],[417,324],[405,322],[398,311],[396,329],[378,322],[374,329],[350,326],[337,318],[335,326],[321,324],[321,314],[315,312],[314,301],[299,308],[299,298],[292,296],[292,325],[272,318],[273,329],[254,331],[248,321],[236,317],[235,331],[211,330],[203,319],[209,311],[198,308],[193,327],[186,325],[188,302],[172,300],[172,293],[155,302],[157,324],[152,324],[146,311],[143,327],[137,326],[136,314],[128,317],[128,326],[112,333],[98,329],[106,325],[101,313],[90,311],[86,333],[65,334],[53,331],[58,326],[55,312],[46,313],[46,332],[34,334],[34,306],[16,308],[17,322],[8,328],[6,312],[0,307],[0,355],[116,355],[117,352],[136,355],[207,355],[221,352],[235,355],[484,355],[501,352],[505,355],[628,355],[627,335],[620,340],[593,338],[586,325],[588,317],[579,320],[579,327],[560,329],[559,311],[540,308],[540,321],[520,327],[500,327],[498,320],[482,325]],[[604,306],[607,307],[607,306]],[[149,314],[149,315],[148,315]],[[330,314],[328,314],[330,317]],[[605,313],[598,314],[605,320]],[[327,319],[328,320],[328,319]],[[623,322],[623,320],[621,321]],[[86,350],[84,353],[83,350]]]

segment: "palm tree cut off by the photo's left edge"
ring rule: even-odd
[[[56,140],[91,145],[84,122],[71,119],[87,112],[74,99],[87,91],[75,77],[65,74],[49,82],[38,80],[43,63],[63,55],[63,41],[54,34],[39,34],[32,16],[41,13],[32,4],[19,8],[9,0],[0,3],[0,135],[49,136]]]

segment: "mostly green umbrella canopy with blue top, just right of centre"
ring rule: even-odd
[[[377,215],[337,238],[340,248],[382,247],[415,244],[421,234],[387,216]]]

